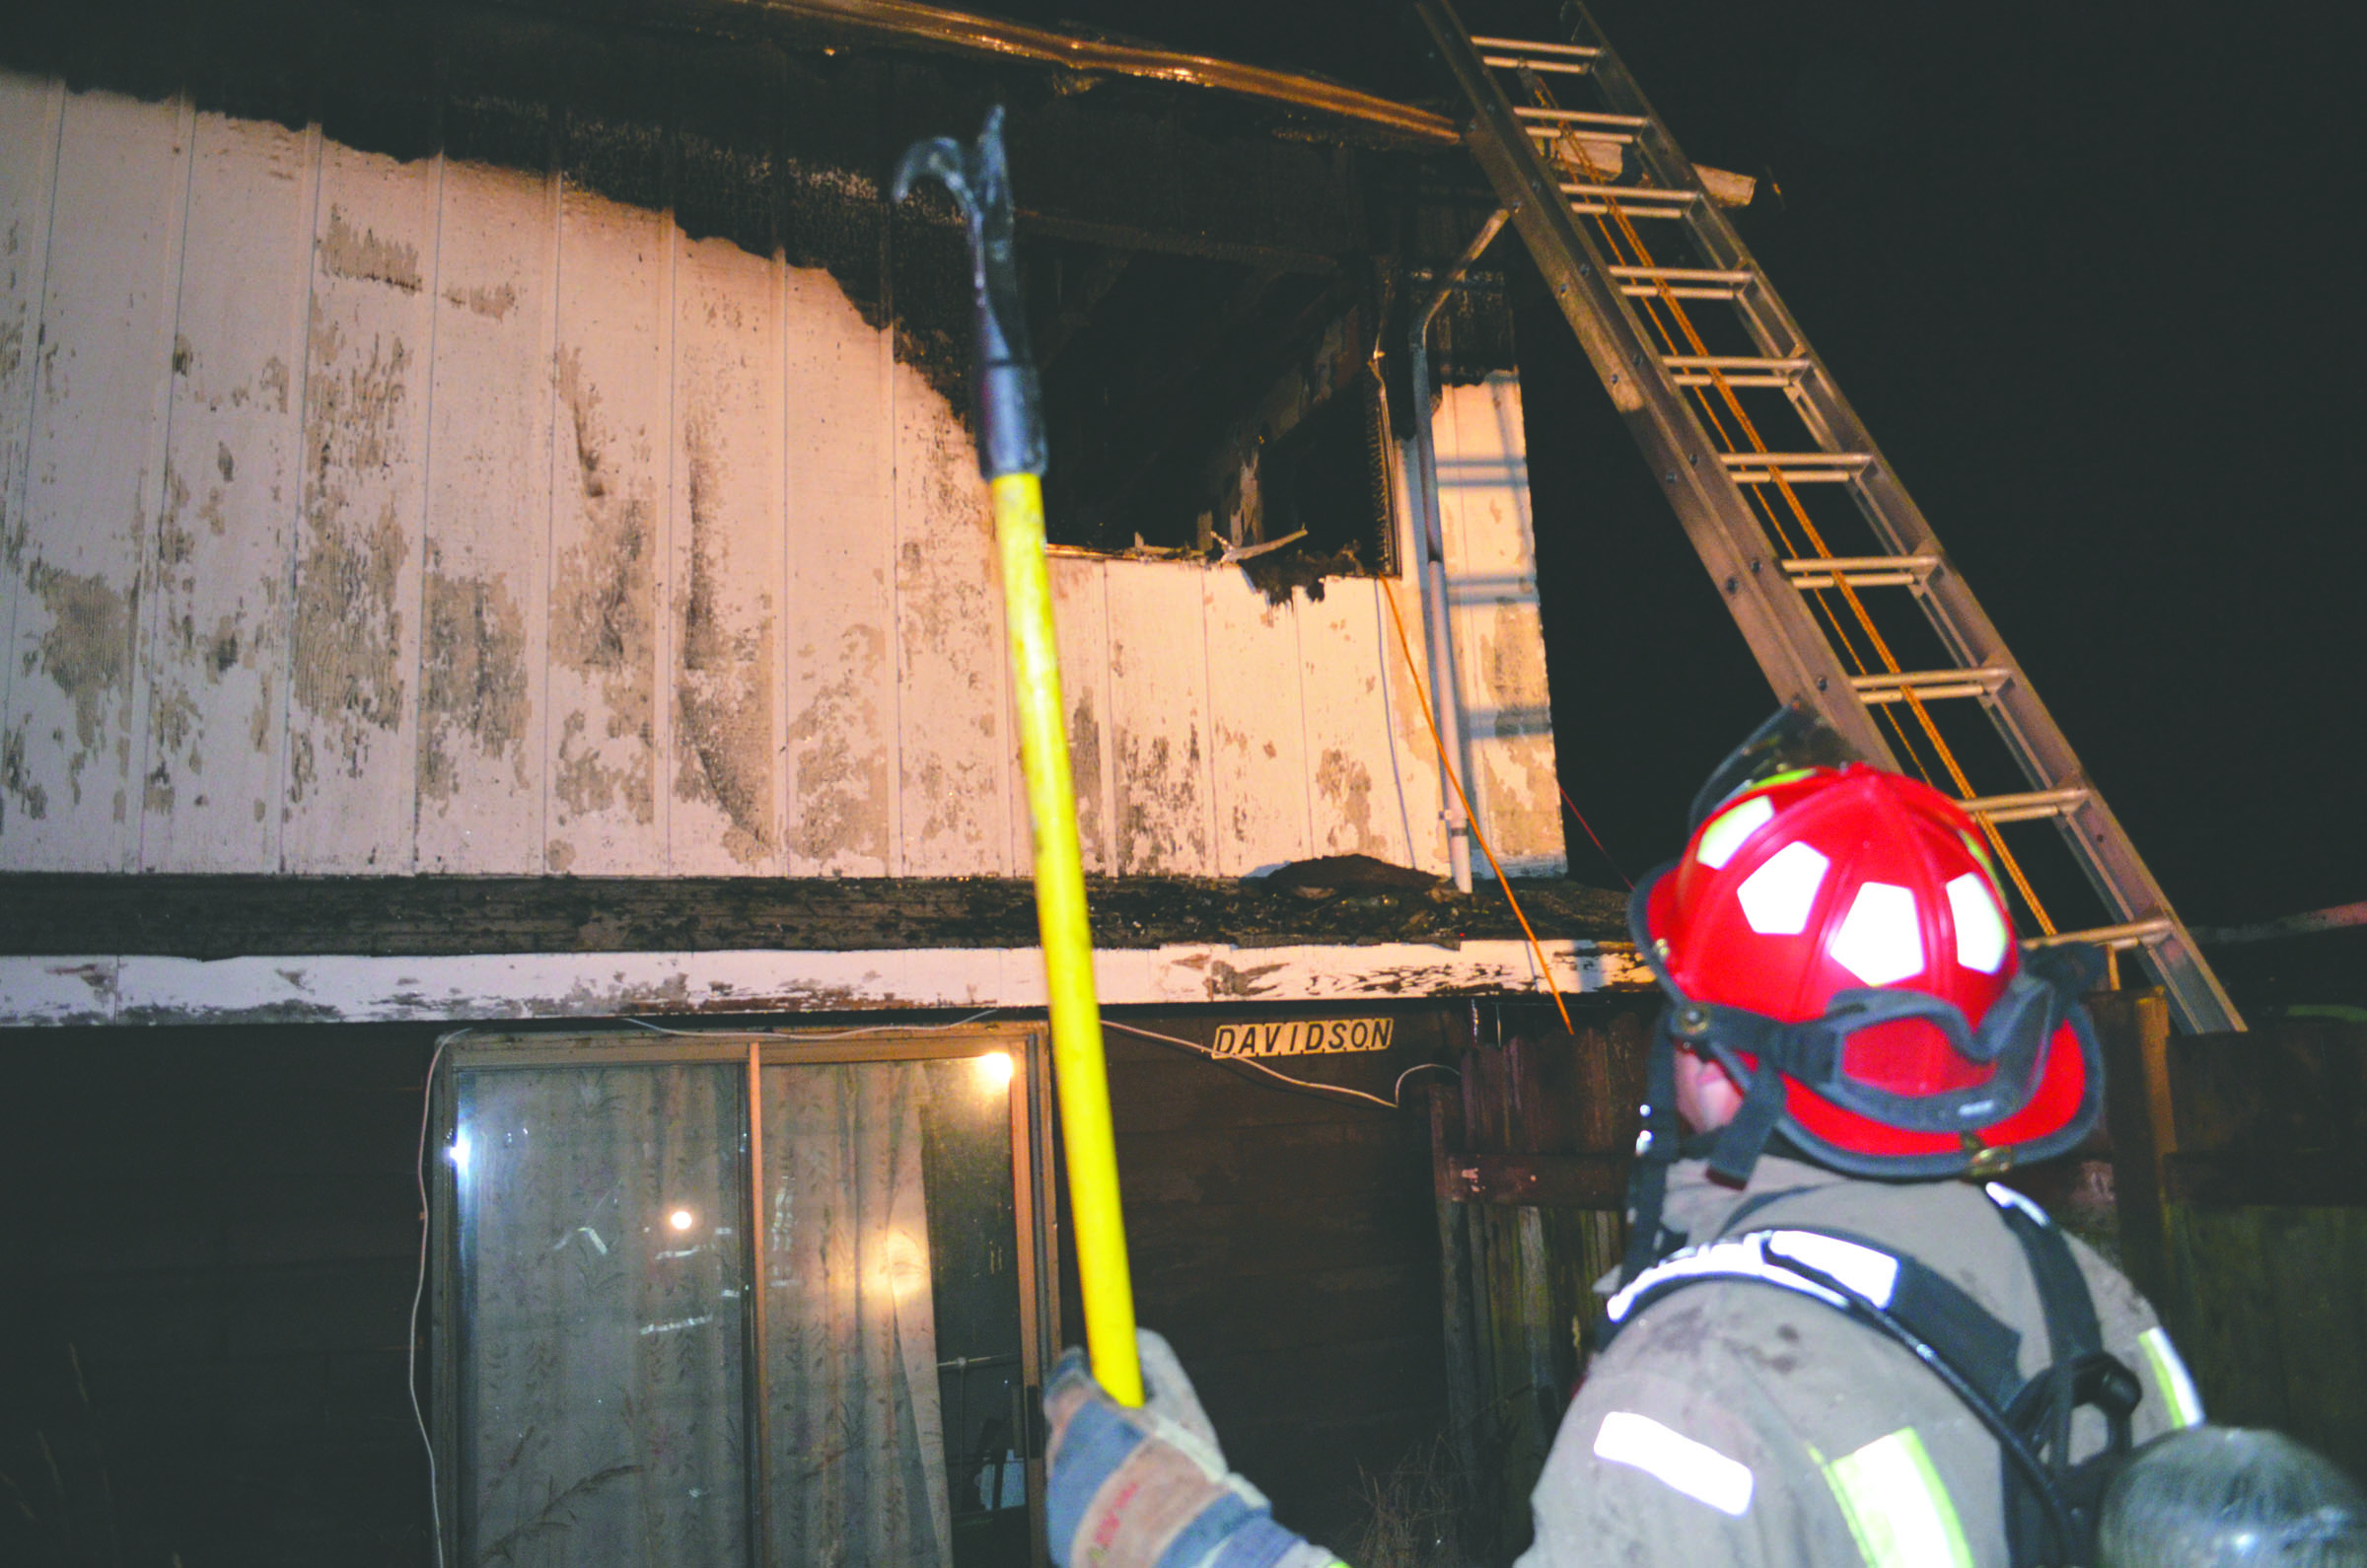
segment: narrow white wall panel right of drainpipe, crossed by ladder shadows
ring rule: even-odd
[[[1456,680],[1475,775],[1463,784],[1505,869],[1560,872],[1567,862],[1520,381],[1496,374],[1446,388],[1434,431]]]

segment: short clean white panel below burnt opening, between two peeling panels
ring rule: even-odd
[[[1307,730],[1297,595],[1271,604],[1238,571],[1202,573],[1217,876],[1307,857]]]

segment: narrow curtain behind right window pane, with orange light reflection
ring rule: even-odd
[[[918,1063],[779,1066],[765,1099],[774,1563],[952,1568]]]

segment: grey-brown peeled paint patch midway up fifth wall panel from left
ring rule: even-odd
[[[525,758],[525,613],[499,578],[426,578],[419,647],[419,796],[459,793],[459,746],[509,763],[533,786]]]

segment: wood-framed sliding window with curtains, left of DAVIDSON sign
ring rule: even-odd
[[[1032,1033],[459,1037],[445,1061],[452,1561],[1041,1561]]]

